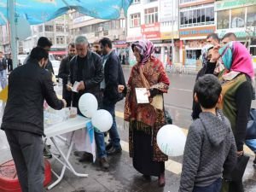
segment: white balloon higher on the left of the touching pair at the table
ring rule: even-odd
[[[98,102],[94,95],[84,93],[79,99],[79,110],[85,117],[91,118],[98,109]]]

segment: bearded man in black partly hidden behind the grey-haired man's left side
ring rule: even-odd
[[[67,102],[67,107],[71,106],[71,92],[67,91],[67,83],[70,83],[70,61],[73,56],[76,54],[76,49],[74,43],[68,44],[68,55],[61,61],[61,65],[59,68],[59,78],[62,79],[62,97]]]

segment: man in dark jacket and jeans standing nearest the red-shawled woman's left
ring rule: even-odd
[[[119,154],[122,151],[120,145],[119,133],[115,122],[115,103],[122,100],[125,96],[125,78],[119,57],[112,49],[112,43],[109,38],[100,40],[102,54],[104,79],[101,84],[103,90],[103,108],[113,116],[113,125],[109,130],[109,143],[107,145],[107,154]]]

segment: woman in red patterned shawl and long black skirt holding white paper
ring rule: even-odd
[[[137,64],[132,67],[125,100],[125,121],[129,124],[129,151],[133,166],[143,177],[159,177],[165,185],[166,154],[156,143],[157,132],[166,125],[163,93],[169,88],[169,79],[160,60],[154,57],[154,45],[148,40],[131,44]],[[137,103],[136,88],[148,90],[149,103]],[[157,100],[157,105],[155,99]],[[158,106],[158,107],[157,107]],[[160,107],[160,108],[159,108]]]

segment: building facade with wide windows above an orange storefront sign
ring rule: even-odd
[[[209,33],[216,31],[214,0],[179,0],[179,38],[181,62],[185,66],[201,66],[201,48]]]

